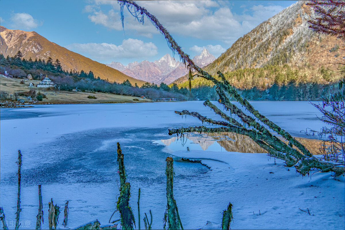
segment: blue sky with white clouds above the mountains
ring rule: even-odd
[[[136,1],[166,27],[191,57],[203,48],[218,57],[238,38],[296,1]],[[49,41],[100,63],[154,61],[172,51],[145,18],[144,25],[111,0],[1,0],[0,24],[36,31]]]

